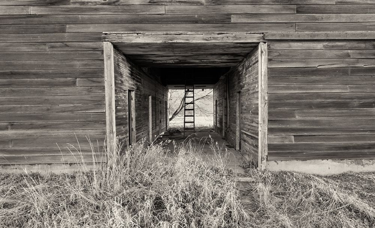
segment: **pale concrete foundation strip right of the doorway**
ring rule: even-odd
[[[375,171],[375,159],[267,161],[266,169],[318,175],[333,175],[349,171],[356,173],[373,172]]]

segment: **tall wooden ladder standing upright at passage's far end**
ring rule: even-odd
[[[194,81],[185,80],[183,97],[183,137],[187,132],[195,133]]]

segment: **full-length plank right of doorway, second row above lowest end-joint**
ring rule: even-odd
[[[269,120],[269,127],[375,126],[375,118],[318,118]]]

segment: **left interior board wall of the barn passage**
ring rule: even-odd
[[[165,101],[168,90],[158,77],[144,72],[128,60],[122,52],[113,49],[116,137],[119,143],[127,145],[128,90],[135,93],[135,141],[148,140],[148,96],[152,99],[152,140],[165,131]]]

